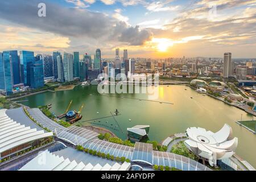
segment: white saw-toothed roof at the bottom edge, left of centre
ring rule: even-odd
[[[93,166],[91,163],[84,164],[82,162],[78,164],[76,160],[71,162],[68,158],[64,159],[63,156],[52,154],[46,150],[20,168],[19,171],[127,171],[130,166],[131,164],[126,162],[115,163],[113,166],[109,164]]]

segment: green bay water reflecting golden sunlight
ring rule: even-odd
[[[126,139],[127,127],[135,125],[150,125],[149,139],[161,142],[172,134],[185,133],[188,127],[203,127],[216,132],[227,123],[232,127],[234,135],[238,137],[237,154],[256,167],[256,135],[235,122],[241,119],[241,114],[243,120],[250,120],[252,117],[236,107],[209,96],[203,96],[181,85],[159,87],[157,101],[172,102],[174,105],[119,98],[121,96],[147,99],[147,94],[111,94],[111,96],[118,97],[98,96],[96,86],[77,86],[74,90],[45,92],[19,100],[28,100],[21,103],[30,107],[52,104],[51,111],[56,115],[64,113],[71,100],[73,100],[71,107],[73,110],[79,110],[80,106],[85,104],[82,109],[83,118],[75,125],[101,127],[104,125],[122,139]],[[116,117],[121,129],[115,127],[117,124],[113,118],[92,121],[93,124],[83,122],[109,116],[110,111],[114,113],[115,109],[118,109],[121,114]]]

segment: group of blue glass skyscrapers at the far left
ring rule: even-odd
[[[36,89],[44,86],[43,60],[31,51],[3,51],[0,53],[0,90],[13,94],[19,85]]]

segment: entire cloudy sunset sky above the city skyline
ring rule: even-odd
[[[46,5],[40,17],[38,5]],[[42,13],[42,11],[40,11]],[[256,57],[256,0],[0,1],[0,52]]]

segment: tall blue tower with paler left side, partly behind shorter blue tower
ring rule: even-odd
[[[21,81],[25,86],[31,86],[30,82],[30,67],[35,63],[34,52],[32,51],[20,51],[20,71]]]

